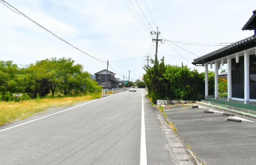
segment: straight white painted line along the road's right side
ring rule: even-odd
[[[140,165],[147,165],[143,90],[142,90],[142,107],[141,107]]]

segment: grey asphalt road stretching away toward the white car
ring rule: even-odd
[[[141,152],[146,155],[143,161],[147,164],[173,164],[168,142],[142,89],[59,112],[0,127],[0,164],[138,165]],[[20,123],[23,124],[17,125]],[[141,130],[145,130],[146,153],[141,151]]]

